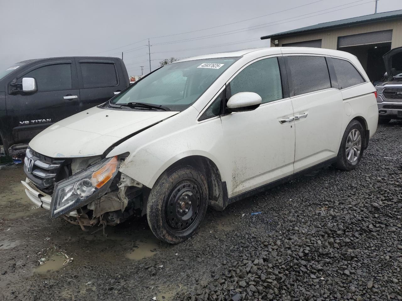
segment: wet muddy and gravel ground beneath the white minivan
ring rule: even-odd
[[[402,121],[379,126],[355,171],[209,210],[173,246],[145,219],[92,235],[49,220],[24,196],[21,165],[1,169],[0,299],[402,300],[401,134]]]

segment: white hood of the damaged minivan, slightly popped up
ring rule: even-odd
[[[102,155],[122,138],[175,114],[178,112],[90,108],[49,126],[29,146],[51,158]]]

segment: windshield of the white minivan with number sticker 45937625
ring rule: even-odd
[[[166,65],[120,93],[111,103],[139,102],[185,110],[237,59],[202,59]]]

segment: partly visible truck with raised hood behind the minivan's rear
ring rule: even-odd
[[[375,85],[379,123],[402,119],[402,47],[388,51],[384,56],[387,80]]]

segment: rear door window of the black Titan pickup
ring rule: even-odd
[[[113,63],[80,63],[84,88],[113,87],[117,74]]]

